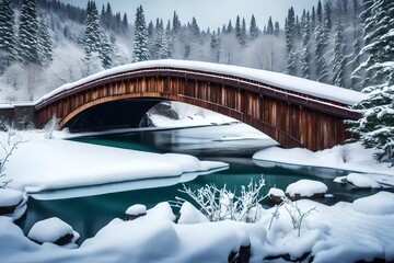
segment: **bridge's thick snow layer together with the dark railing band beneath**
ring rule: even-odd
[[[266,88],[271,88],[273,91],[292,93],[300,96],[310,96],[311,99],[320,99],[320,101],[334,104],[355,105],[366,99],[363,94],[357,91],[278,72],[210,62],[163,59],[129,64],[101,71],[54,90],[36,101],[36,105],[40,105],[46,101],[58,96],[59,93],[103,82],[105,79],[123,78],[124,76],[129,76],[132,72],[146,72],[149,70],[157,72],[160,70],[167,71],[170,69],[174,73],[178,71],[182,77],[185,77],[183,73],[194,72],[195,75],[199,75],[201,78],[209,78],[211,76],[217,79],[219,77],[222,78],[223,81],[235,79],[243,82],[243,84],[263,84]]]

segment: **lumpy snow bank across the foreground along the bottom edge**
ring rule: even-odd
[[[50,243],[38,245],[24,237],[11,218],[0,217],[0,258],[4,262],[25,263],[227,262],[232,251],[251,244],[251,262],[285,255],[297,260],[305,253],[311,253],[317,263],[375,259],[391,262],[394,260],[393,204],[394,194],[387,192],[332,207],[299,201],[297,207],[301,211],[314,210],[303,219],[298,237],[283,206],[269,229],[276,208],[267,210],[256,224],[177,225],[170,205],[161,203],[136,220],[114,219],[74,250]],[[185,214],[189,208],[185,208]]]

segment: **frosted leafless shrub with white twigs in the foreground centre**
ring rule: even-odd
[[[259,192],[265,185],[262,178],[258,182],[253,179],[245,187],[241,187],[239,196],[225,187],[218,188],[215,184],[207,184],[204,187],[193,191],[186,185],[179,192],[187,194],[197,203],[200,211],[210,221],[235,220],[245,222],[255,222],[262,217],[263,207],[260,202],[266,196],[260,196]],[[176,197],[177,206],[186,202],[184,198]]]

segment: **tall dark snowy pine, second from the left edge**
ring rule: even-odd
[[[23,0],[20,14],[20,57],[25,64],[39,65],[38,14],[35,0]]]

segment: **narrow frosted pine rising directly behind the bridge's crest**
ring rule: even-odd
[[[132,61],[149,60],[148,31],[142,5],[137,9]]]

